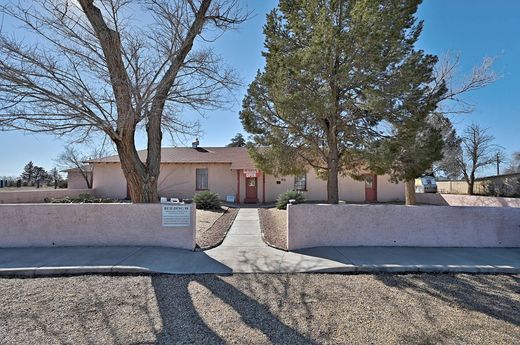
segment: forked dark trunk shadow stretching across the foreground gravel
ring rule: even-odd
[[[257,333],[261,332],[273,344],[315,344],[308,337],[280,321],[266,305],[251,298],[218,275],[157,275],[152,277],[152,286],[163,322],[162,330],[157,334],[157,344],[223,344],[227,342],[226,335],[219,334],[219,330],[208,325],[208,322],[201,316],[204,311],[200,306],[195,305],[193,289],[190,289],[193,284],[199,284],[206,291],[206,294],[199,291],[198,298],[206,298],[207,308],[213,308],[211,322],[225,323],[226,320],[214,320],[214,316],[218,314],[219,308],[231,309],[240,316],[237,321],[237,330],[245,327]],[[209,303],[210,300],[213,300],[212,305]],[[215,301],[218,302],[215,304]],[[238,327],[238,323],[242,328]],[[226,327],[229,328],[229,325]],[[235,335],[239,339],[241,336],[246,336]],[[254,341],[253,339],[242,339],[246,343]]]

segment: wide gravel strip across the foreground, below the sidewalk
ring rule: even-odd
[[[520,276],[0,279],[1,344],[519,344]]]

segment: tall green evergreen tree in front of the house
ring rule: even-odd
[[[286,175],[310,166],[337,203],[339,174],[359,176],[371,157],[419,139],[414,131],[435,141],[426,119],[446,89],[431,87],[437,58],[414,49],[419,3],[280,1],[264,27],[265,70],[240,113],[262,170]]]

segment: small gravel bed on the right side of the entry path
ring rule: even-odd
[[[259,208],[258,215],[264,241],[271,247],[287,250],[287,211]]]

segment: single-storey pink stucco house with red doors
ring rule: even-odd
[[[138,152],[146,159],[146,150]],[[89,161],[93,188],[100,196],[128,197],[127,183],[117,155]],[[313,169],[301,176],[276,177],[255,167],[244,147],[170,147],[161,151],[158,181],[162,197],[192,198],[210,190],[222,200],[236,203],[271,203],[280,193],[301,191],[307,200],[327,199],[327,182]],[[392,183],[388,176],[367,174],[365,181],[340,177],[340,199],[353,202],[404,200],[404,184]]]

